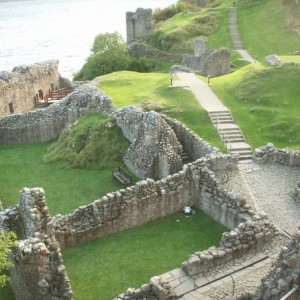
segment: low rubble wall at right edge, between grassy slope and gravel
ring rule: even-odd
[[[277,163],[290,167],[300,167],[300,151],[277,149],[272,143],[255,149],[254,159],[258,163]]]

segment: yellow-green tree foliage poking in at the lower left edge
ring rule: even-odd
[[[0,233],[0,288],[7,282],[7,271],[13,266],[8,259],[8,254],[15,246],[16,235],[14,232]]]

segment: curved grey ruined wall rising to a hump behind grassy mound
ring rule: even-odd
[[[79,86],[48,108],[0,118],[0,143],[39,143],[59,135],[67,124],[89,112],[110,113],[111,99],[91,84]]]

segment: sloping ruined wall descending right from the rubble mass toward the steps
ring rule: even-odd
[[[197,136],[192,130],[187,128],[177,120],[164,116],[166,122],[174,130],[177,139],[183,146],[183,150],[194,161],[208,154],[217,154],[219,150],[209,145],[206,141]]]

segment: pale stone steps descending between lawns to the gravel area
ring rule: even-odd
[[[235,124],[228,110],[209,112],[213,125],[217,128],[219,136],[231,154],[238,154],[239,161],[252,160],[252,149],[246,143],[245,137]]]

